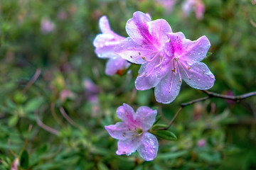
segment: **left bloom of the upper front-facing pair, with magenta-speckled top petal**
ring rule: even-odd
[[[164,57],[163,47],[169,39],[166,33],[171,33],[171,27],[164,19],[151,21],[149,16],[137,11],[127,21],[126,30],[129,38],[116,46],[116,52],[129,62],[142,64],[135,81],[136,89],[151,89],[159,84],[167,71],[160,66]]]

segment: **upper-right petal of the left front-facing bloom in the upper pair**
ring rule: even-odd
[[[169,39],[166,33],[171,33],[171,26],[164,19],[158,19],[150,21],[148,23],[149,33],[153,37],[154,42],[158,42],[159,48],[163,47],[166,41]]]

